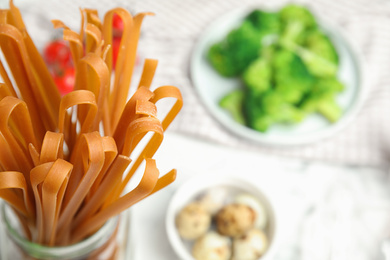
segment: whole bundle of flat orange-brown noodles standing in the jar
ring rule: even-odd
[[[114,14],[124,23],[115,71]],[[147,59],[128,99],[146,15],[151,14],[133,17],[116,8],[101,21],[96,10],[84,9],[79,33],[53,21],[63,29],[76,69],[75,90],[61,98],[20,11],[12,1],[9,10],[0,11],[0,197],[31,241],[78,242],[175,179],[175,170],[159,177],[152,157],[182,107],[180,91],[173,86],[151,91],[157,61]],[[171,109],[160,121],[156,103],[167,98]],[[138,186],[123,194],[141,165]]]

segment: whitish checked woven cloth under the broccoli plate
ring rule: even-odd
[[[40,3],[45,4],[40,4]],[[275,147],[254,144],[222,127],[203,106],[189,76],[192,50],[201,33],[221,15],[245,5],[280,8],[283,0],[132,0],[31,1],[22,8],[33,40],[43,46],[56,31],[48,22],[62,19],[78,28],[79,7],[98,9],[102,15],[116,6],[131,12],[151,11],[139,42],[139,57],[159,60],[152,87],[180,88],[184,107],[169,128],[220,144],[264,154],[352,165],[387,165],[390,157],[390,4],[384,0],[295,1],[339,27],[362,54],[363,87],[368,93],[354,120],[331,137],[306,145]],[[17,4],[18,1],[15,0]],[[58,32],[57,32],[58,34]]]

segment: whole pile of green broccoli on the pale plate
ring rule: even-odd
[[[252,11],[210,48],[208,59],[221,75],[241,77],[244,89],[228,93],[219,105],[254,130],[301,122],[311,113],[335,122],[342,114],[338,54],[306,7]]]

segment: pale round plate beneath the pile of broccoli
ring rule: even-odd
[[[320,21],[318,23],[331,38],[340,58],[339,79],[346,87],[337,97],[344,111],[342,118],[331,124],[323,116],[313,114],[299,124],[277,124],[270,127],[266,133],[261,133],[235,122],[227,111],[219,107],[219,100],[227,93],[239,88],[242,83],[237,78],[220,76],[211,67],[206,54],[212,44],[220,41],[228,32],[237,27],[251,10],[253,8],[234,10],[217,19],[204,31],[195,45],[190,74],[200,99],[211,115],[238,136],[260,143],[277,145],[297,145],[317,141],[334,134],[350,122],[363,98],[360,59],[335,27],[329,26],[328,22]],[[322,21],[318,18],[317,20]]]

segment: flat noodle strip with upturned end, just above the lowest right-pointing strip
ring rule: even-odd
[[[159,171],[156,167],[156,162],[153,159],[147,158],[145,172],[138,186],[114,201],[107,208],[103,209],[86,222],[81,223],[79,228],[76,228],[72,234],[72,241],[77,242],[92,234],[108,219],[120,214],[139,200],[145,198],[153,191],[157,183],[158,176]]]

